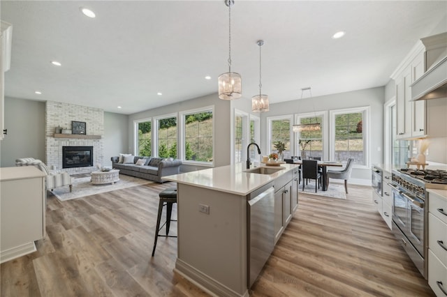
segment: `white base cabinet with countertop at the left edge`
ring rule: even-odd
[[[36,251],[45,236],[45,174],[34,166],[0,168],[0,263]]]

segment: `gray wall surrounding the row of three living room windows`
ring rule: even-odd
[[[134,121],[173,113],[177,113],[178,116],[179,112],[211,105],[214,105],[214,167],[229,165],[231,162],[231,146],[229,141],[231,129],[230,102],[227,100],[220,100],[217,97],[217,93],[131,114],[129,116],[129,148],[127,151],[129,153],[133,153],[135,151],[135,137],[133,133]],[[180,167],[180,171],[189,172],[204,168],[207,167],[182,165],[182,167]]]

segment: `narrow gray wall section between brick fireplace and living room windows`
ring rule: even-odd
[[[129,143],[129,116],[104,112],[104,161],[103,166],[112,166],[110,158],[127,151]]]

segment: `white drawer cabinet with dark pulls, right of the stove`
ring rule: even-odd
[[[437,296],[447,295],[447,197],[428,195],[428,284]]]

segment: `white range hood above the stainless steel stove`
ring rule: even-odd
[[[447,56],[411,84],[411,100],[447,98]]]

